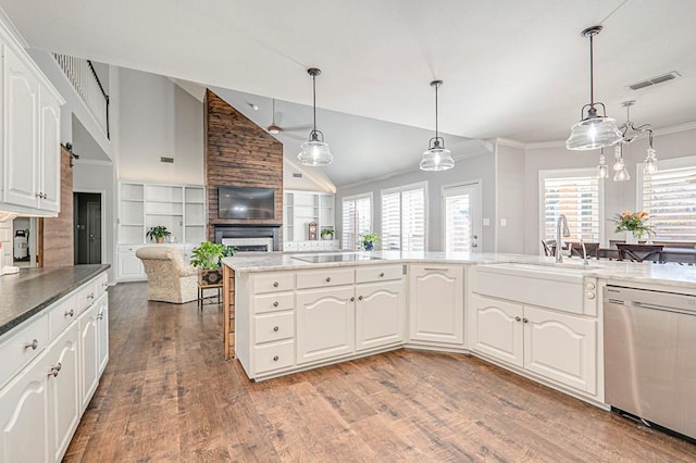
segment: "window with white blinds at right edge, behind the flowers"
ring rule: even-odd
[[[638,166],[638,210],[649,214],[652,239],[696,241],[696,157],[659,162],[659,171]]]

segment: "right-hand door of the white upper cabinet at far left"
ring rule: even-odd
[[[48,90],[39,88],[39,208],[58,212],[61,208],[61,108]]]

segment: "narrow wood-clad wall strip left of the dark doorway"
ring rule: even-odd
[[[39,266],[74,264],[73,167],[70,152],[61,147],[61,212],[39,220]]]

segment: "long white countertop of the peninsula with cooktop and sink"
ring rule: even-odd
[[[519,262],[526,264],[554,265],[554,258],[529,254],[505,254],[493,252],[330,252],[328,254],[357,254],[360,258],[374,256],[376,260],[359,260],[348,262],[310,263],[294,258],[319,255],[318,253],[283,253],[283,252],[240,252],[232,258],[223,259],[223,263],[235,272],[272,272],[287,270],[307,270],[320,267],[337,267],[346,265],[384,265],[385,263],[440,263],[440,264],[499,264]],[[589,261],[591,268],[580,268],[582,260],[564,258],[571,268],[582,272],[585,276],[607,279],[611,281],[638,283],[660,285],[696,290],[696,266],[679,265],[675,263],[654,264],[619,261]]]

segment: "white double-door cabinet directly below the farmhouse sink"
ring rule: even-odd
[[[470,304],[473,351],[596,393],[596,321],[475,293]]]

